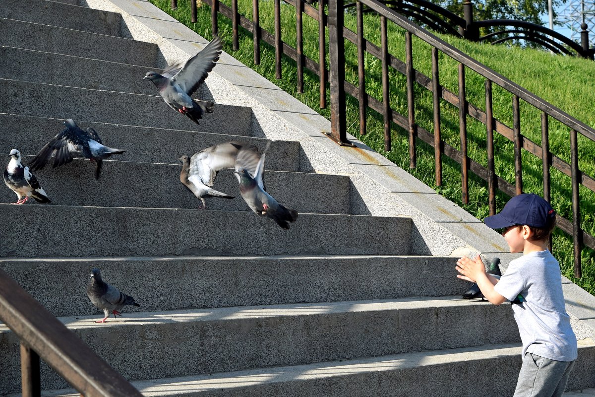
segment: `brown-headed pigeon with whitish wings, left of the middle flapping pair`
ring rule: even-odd
[[[202,202],[206,208],[205,197],[221,197],[233,199],[234,196],[212,189],[215,177],[221,168],[232,168],[236,155],[245,146],[243,142],[226,142],[203,149],[192,158],[184,155],[180,160],[184,163],[180,173],[180,182]]]

